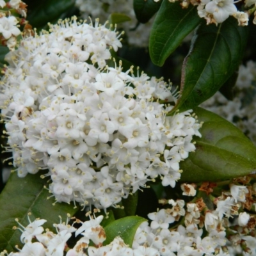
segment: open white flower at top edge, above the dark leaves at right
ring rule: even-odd
[[[205,10],[213,14],[217,23],[223,22],[229,15],[237,12],[233,0],[213,0],[205,5]]]

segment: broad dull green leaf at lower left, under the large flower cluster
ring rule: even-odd
[[[44,188],[45,180],[40,178],[41,173],[28,174],[25,178],[17,177],[12,173],[5,188],[0,195],[0,252],[4,249],[16,252],[15,245],[20,243],[20,230],[13,230],[18,226],[15,218],[26,226],[28,225],[28,213],[31,212],[31,221],[35,218],[47,220],[44,227],[51,228],[53,223],[60,223],[67,219],[67,213],[71,216],[77,211],[74,205],[56,204],[54,198],[47,200],[49,191]]]

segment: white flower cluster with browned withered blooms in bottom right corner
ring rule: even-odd
[[[184,200],[163,200],[172,208],[148,214],[152,221],[150,225],[147,222],[140,225],[132,248],[144,245],[148,250],[155,249],[159,253],[156,255],[161,256],[233,256],[242,252],[245,253],[243,255],[254,255],[256,237],[253,232],[255,224],[252,223],[255,218],[247,212],[239,211],[242,205],[249,202],[249,195],[246,186],[231,184],[230,192],[216,198],[215,209],[207,211],[202,198],[187,204]],[[170,228],[170,224],[176,224],[175,221],[179,221],[180,217],[184,224]],[[234,218],[232,223],[229,217]],[[252,222],[248,224],[250,220]]]

